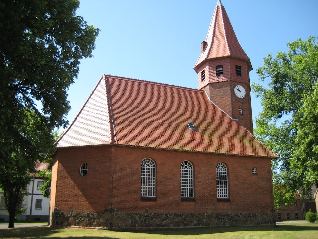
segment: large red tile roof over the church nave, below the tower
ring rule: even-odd
[[[188,122],[197,128],[189,129]],[[57,147],[127,145],[277,157],[204,91],[103,76]]]

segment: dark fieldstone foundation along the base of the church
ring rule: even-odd
[[[110,208],[105,212],[51,213],[51,226],[78,226],[94,228],[167,228],[167,227],[203,227],[228,225],[274,225],[273,212],[257,211],[255,213],[121,213]]]

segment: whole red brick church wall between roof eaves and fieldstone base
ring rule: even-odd
[[[112,159],[111,159],[112,155]],[[55,207],[60,211],[103,212],[268,212],[273,209],[269,159],[242,156],[175,152],[126,147],[59,149]],[[150,157],[156,163],[156,201],[141,201],[141,162]],[[195,201],[181,202],[180,164],[194,166]],[[83,162],[89,166],[79,175]],[[217,201],[216,165],[228,167],[230,202]],[[252,174],[252,167],[258,174]],[[113,178],[113,182],[111,179]]]

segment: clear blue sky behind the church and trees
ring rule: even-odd
[[[263,58],[287,51],[286,43],[318,36],[318,1],[221,0],[239,43],[249,56],[251,82]],[[197,89],[193,66],[217,0],[81,0],[77,14],[101,30],[93,58],[83,59],[68,91],[73,121],[103,74]],[[252,99],[253,119],[261,110]],[[254,124],[255,127],[255,124]]]

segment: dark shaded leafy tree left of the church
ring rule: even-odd
[[[35,163],[53,150],[52,130],[68,124],[79,60],[95,48],[99,29],[76,16],[78,7],[77,0],[0,3],[0,187],[9,227]]]

